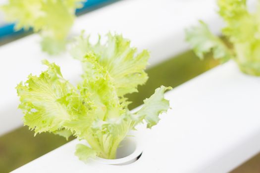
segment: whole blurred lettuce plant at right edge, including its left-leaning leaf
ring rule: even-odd
[[[222,34],[233,44],[232,48],[214,36],[203,21],[186,30],[186,40],[200,58],[212,51],[214,58],[234,59],[242,72],[260,76],[260,6],[250,12],[246,2],[217,0],[218,14],[225,21]]]

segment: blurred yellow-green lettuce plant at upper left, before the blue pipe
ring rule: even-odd
[[[65,49],[66,38],[75,18],[75,9],[85,0],[9,0],[0,8],[15,29],[33,28],[42,36],[42,50],[57,54]]]

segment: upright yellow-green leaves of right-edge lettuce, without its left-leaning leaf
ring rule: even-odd
[[[241,71],[260,76],[260,2],[254,12],[249,12],[246,2],[218,0],[219,14],[226,22],[222,33],[233,43]]]

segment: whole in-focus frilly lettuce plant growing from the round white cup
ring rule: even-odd
[[[77,87],[62,77],[59,66],[47,60],[43,61],[46,71],[29,75],[25,83],[17,85],[24,125],[35,134],[53,132],[86,140],[89,146],[78,144],[75,152],[84,162],[96,156],[115,159],[129,130],[144,121],[152,128],[158,115],[169,109],[164,92],[171,87],[157,88],[140,110],[131,112],[124,95],[137,92],[147,81],[147,50],[137,53],[121,35],[107,34],[104,44],[92,44],[82,35],[71,54],[82,62],[84,71]]]

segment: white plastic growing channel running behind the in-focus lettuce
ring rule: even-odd
[[[184,28],[198,19],[217,32],[221,22],[215,9],[215,0],[121,0],[78,17],[72,33],[122,33],[139,50],[151,51],[150,63],[155,65],[187,49]],[[22,126],[15,87],[30,73],[46,69],[42,59],[56,62],[66,79],[80,79],[80,63],[68,54],[49,57],[40,50],[38,35],[0,46],[0,59],[0,135]]]

